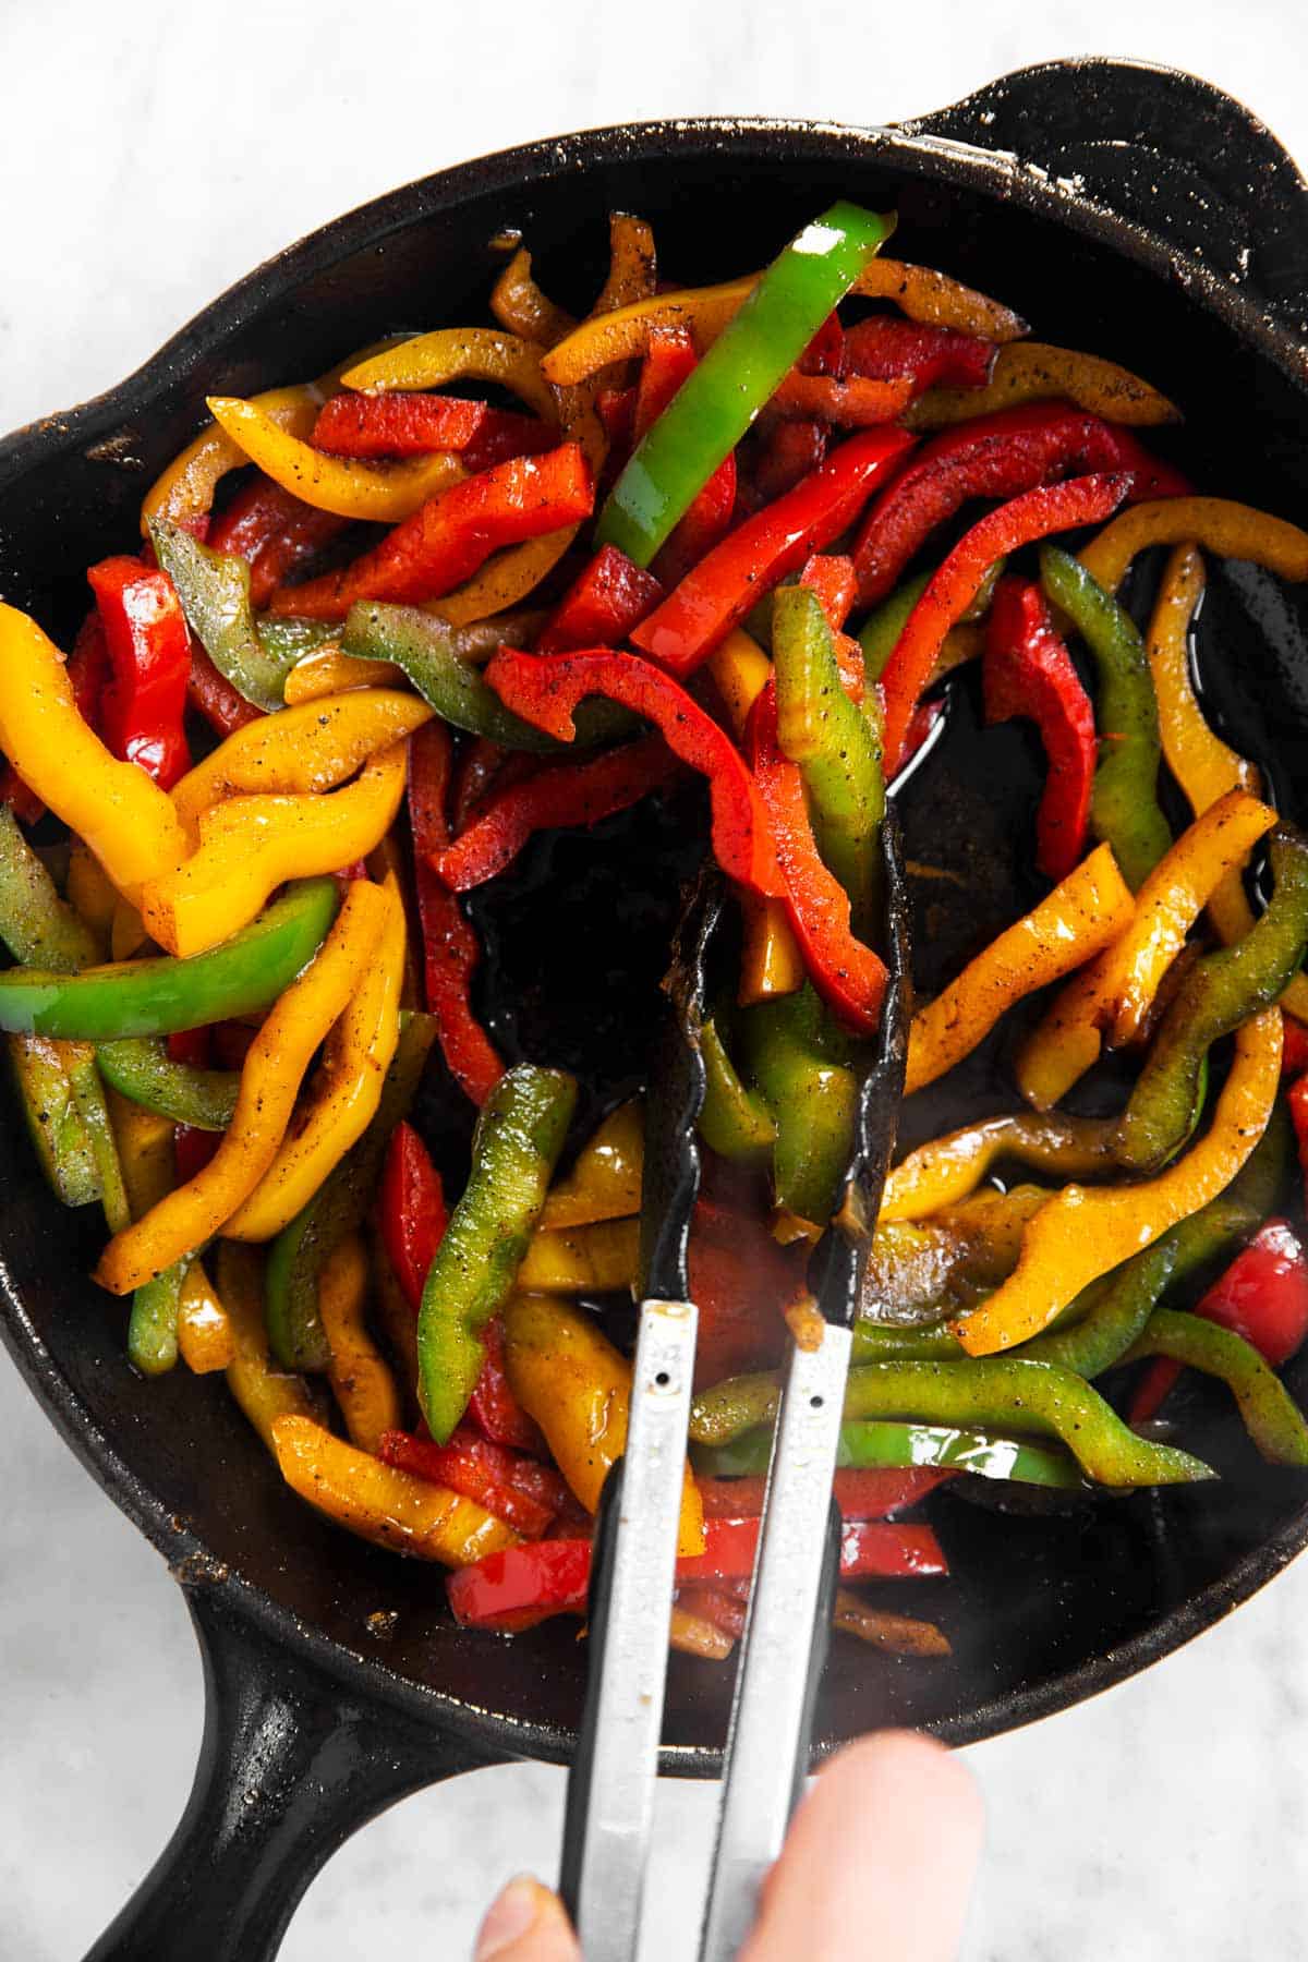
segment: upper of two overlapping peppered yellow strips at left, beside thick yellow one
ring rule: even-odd
[[[282,708],[233,730],[173,787],[173,804],[192,832],[202,812],[229,797],[333,791],[429,720],[428,702],[398,689],[355,689]]]

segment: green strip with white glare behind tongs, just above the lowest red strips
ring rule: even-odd
[[[747,1477],[767,1472],[773,1432],[747,1430],[733,1444],[694,1452],[696,1472],[708,1477]],[[843,1468],[892,1470],[896,1466],[935,1466],[971,1472],[977,1477],[1010,1479],[1018,1485],[1084,1489],[1075,1458],[1030,1438],[1000,1438],[988,1430],[959,1430],[943,1424],[849,1422],[839,1426],[835,1464]]]

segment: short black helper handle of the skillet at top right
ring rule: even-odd
[[[1271,129],[1212,82],[1143,61],[1047,61],[904,128],[1010,151],[1308,334],[1308,188]]]

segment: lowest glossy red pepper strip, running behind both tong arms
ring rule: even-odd
[[[677,1562],[677,1583],[737,1581],[753,1572],[757,1519],[704,1521],[706,1552]],[[841,1532],[843,1579],[947,1574],[930,1526],[847,1521]],[[584,1615],[590,1587],[590,1540],[537,1540],[488,1554],[445,1581],[455,1621],[465,1628],[516,1632],[549,1615]]]

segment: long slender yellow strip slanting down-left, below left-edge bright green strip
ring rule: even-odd
[[[277,1158],[314,1052],[369,971],[386,914],[378,887],[351,885],[335,926],[255,1036],[216,1156],[104,1250],[96,1279],[112,1295],[129,1293],[194,1254],[255,1189]]]

